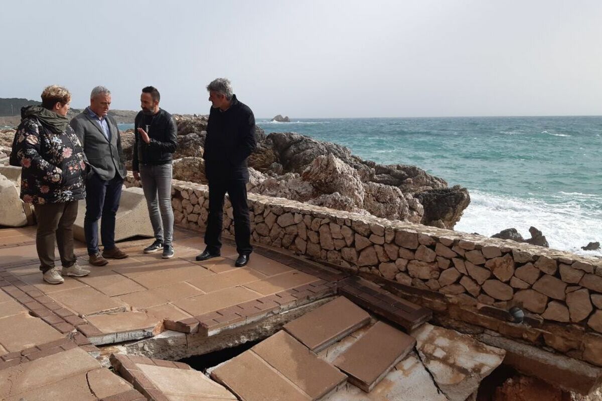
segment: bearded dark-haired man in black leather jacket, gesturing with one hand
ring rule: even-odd
[[[144,253],[163,249],[163,259],[174,256],[172,209],[172,157],[178,146],[175,118],[159,108],[161,95],[157,88],[142,89],[142,111],[134,120],[134,178],[141,180],[155,242]]]

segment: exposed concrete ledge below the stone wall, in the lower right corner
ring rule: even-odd
[[[574,358],[553,354],[505,337],[475,335],[485,344],[506,350],[504,364],[518,372],[534,376],[565,391],[589,394],[600,386],[602,369]]]

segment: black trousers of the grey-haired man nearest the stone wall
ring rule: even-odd
[[[222,247],[224,196],[228,192],[234,209],[234,239],[239,254],[250,254],[251,224],[247,204],[247,186],[244,180],[209,181],[209,216],[205,231],[206,250],[219,253]]]

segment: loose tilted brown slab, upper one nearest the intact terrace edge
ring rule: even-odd
[[[344,296],[284,325],[284,329],[314,352],[346,337],[370,322],[370,314]]]

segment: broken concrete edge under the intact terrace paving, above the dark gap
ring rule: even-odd
[[[273,314],[266,319],[253,322],[250,325],[221,332],[206,337],[203,334],[184,334],[176,331],[164,331],[155,337],[123,344],[125,354],[142,355],[148,358],[176,361],[194,355],[208,354],[217,350],[235,347],[248,341],[263,340],[275,334],[282,326],[297,317],[320,307],[335,297],[322,298],[298,308]]]

